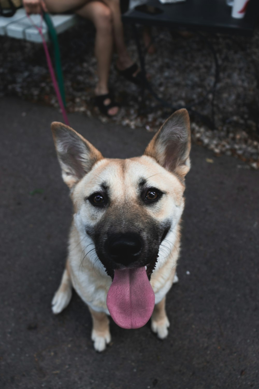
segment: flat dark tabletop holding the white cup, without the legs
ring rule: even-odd
[[[257,0],[250,0],[243,19],[231,18],[231,7],[226,5],[226,0],[186,0],[176,4],[148,0],[146,4],[162,12],[148,14],[132,9],[123,14],[123,22],[251,36],[259,15]]]

